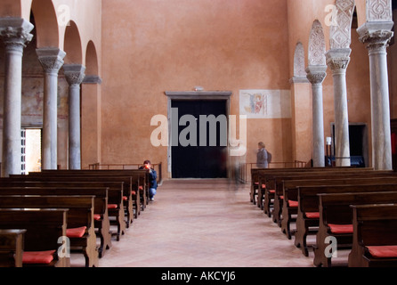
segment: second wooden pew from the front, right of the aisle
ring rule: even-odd
[[[316,236],[313,259],[313,264],[316,266],[330,267],[332,265],[332,255],[329,252],[326,255],[329,244],[326,240],[329,237],[336,239],[336,249],[352,249],[351,205],[397,203],[397,185],[394,184],[379,185],[377,191],[371,191],[372,185],[360,186],[363,192],[344,192],[344,190],[349,191],[349,187],[341,186],[338,188],[343,188],[340,189],[340,193],[318,194],[320,225]]]

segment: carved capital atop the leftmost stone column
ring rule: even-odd
[[[0,38],[8,50],[21,52],[32,40],[30,31],[34,26],[21,18],[0,18]]]

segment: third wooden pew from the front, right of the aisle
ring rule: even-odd
[[[304,256],[308,256],[308,247],[306,238],[308,235],[317,234],[320,224],[319,197],[320,193],[337,193],[337,192],[358,192],[377,191],[379,185],[382,185],[384,191],[394,191],[393,184],[397,183],[397,178],[344,178],[333,181],[311,181],[312,184],[307,186],[297,186],[294,192],[297,192],[297,216],[295,245],[302,249]],[[387,186],[390,184],[392,186]],[[303,183],[303,185],[305,185]],[[390,188],[386,188],[390,187]],[[291,191],[288,191],[288,195]],[[309,215],[310,213],[310,215]]]

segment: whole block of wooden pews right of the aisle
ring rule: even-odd
[[[397,265],[397,174],[372,168],[256,168],[250,201],[315,266],[350,250],[348,266]],[[295,224],[295,228],[293,225]],[[309,245],[308,236],[315,237]]]

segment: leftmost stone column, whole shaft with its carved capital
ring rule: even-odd
[[[20,174],[20,122],[23,49],[32,39],[33,25],[20,18],[0,19],[5,47],[2,176]]]

